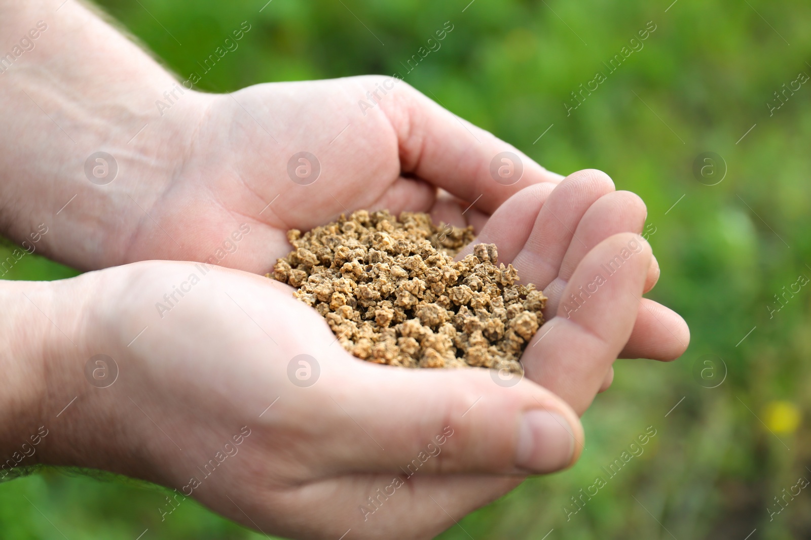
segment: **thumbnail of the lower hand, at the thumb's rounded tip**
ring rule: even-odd
[[[534,473],[551,473],[569,466],[574,453],[572,428],[548,410],[528,410],[518,427],[516,465]]]

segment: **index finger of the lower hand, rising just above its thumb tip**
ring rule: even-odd
[[[524,352],[526,376],[581,414],[600,389],[607,369],[628,342],[637,318],[650,245],[622,233],[583,257],[556,317],[541,327]]]

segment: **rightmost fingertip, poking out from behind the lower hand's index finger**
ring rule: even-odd
[[[690,329],[684,319],[658,302],[647,298],[637,304],[637,321],[620,358],[675,360],[690,343]]]

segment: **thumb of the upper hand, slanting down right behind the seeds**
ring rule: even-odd
[[[487,214],[526,185],[562,179],[413,87],[398,83],[392,93],[398,99],[381,100],[380,110],[397,133],[402,170],[474,202]],[[503,152],[510,155],[502,156]],[[507,176],[491,174],[493,163],[496,170],[506,165]]]

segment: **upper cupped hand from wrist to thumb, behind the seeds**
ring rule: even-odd
[[[370,100],[370,91],[379,99]],[[359,209],[429,211],[438,189],[481,217],[526,185],[562,178],[385,77],[195,93],[166,115],[155,134],[144,134],[145,143],[161,146],[164,172],[132,183],[139,190],[128,194],[140,198],[141,209],[122,196],[138,225],[110,246],[117,262],[206,261],[247,223],[251,232],[238,250],[212,262],[264,274],[290,250],[291,228],[308,230]],[[514,156],[513,176],[496,173],[499,183],[491,162],[502,166],[501,152]],[[126,178],[118,189],[127,189]]]

